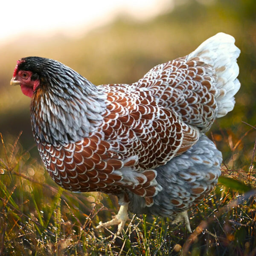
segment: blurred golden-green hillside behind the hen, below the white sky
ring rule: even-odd
[[[235,2],[232,6],[228,1],[204,6],[189,1],[171,13],[144,23],[119,17],[114,23],[81,38],[26,35],[6,44],[0,49],[0,131],[17,135],[23,130],[21,142],[27,146],[33,143],[29,99],[18,88],[9,86],[15,63],[23,56],[57,59],[94,84],[131,83],[154,65],[188,54],[220,31],[233,35],[242,50],[239,58],[242,87],[235,110],[227,117],[228,121],[220,121],[221,125],[228,123],[235,127],[241,120],[254,124],[256,103],[251,96],[256,82],[256,47],[254,14],[250,14],[253,1]]]

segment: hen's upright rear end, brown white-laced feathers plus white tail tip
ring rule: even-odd
[[[155,66],[131,87],[147,91],[158,105],[206,132],[235,105],[240,50],[234,42],[231,35],[218,33],[189,55]]]

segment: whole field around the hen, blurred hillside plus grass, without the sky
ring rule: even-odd
[[[256,255],[255,8],[253,0],[191,0],[144,23],[120,17],[78,39],[27,37],[2,46],[0,255]],[[207,134],[223,154],[218,185],[189,211],[192,234],[168,218],[130,213],[125,232],[113,241],[116,227],[95,227],[117,212],[117,199],[59,188],[38,158],[29,99],[9,88],[17,59],[55,58],[94,84],[129,83],[220,31],[233,35],[241,49],[241,89],[234,110]]]

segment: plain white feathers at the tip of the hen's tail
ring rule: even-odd
[[[208,38],[187,56],[187,60],[199,57],[200,61],[211,65],[216,72],[217,117],[225,116],[234,108],[234,95],[240,88],[240,82],[237,79],[239,67],[236,62],[239,54],[240,50],[235,46],[235,38],[218,33]]]

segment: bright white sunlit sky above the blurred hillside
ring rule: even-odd
[[[171,8],[172,0],[2,1],[0,41],[30,33],[79,35],[120,14],[143,20]]]

